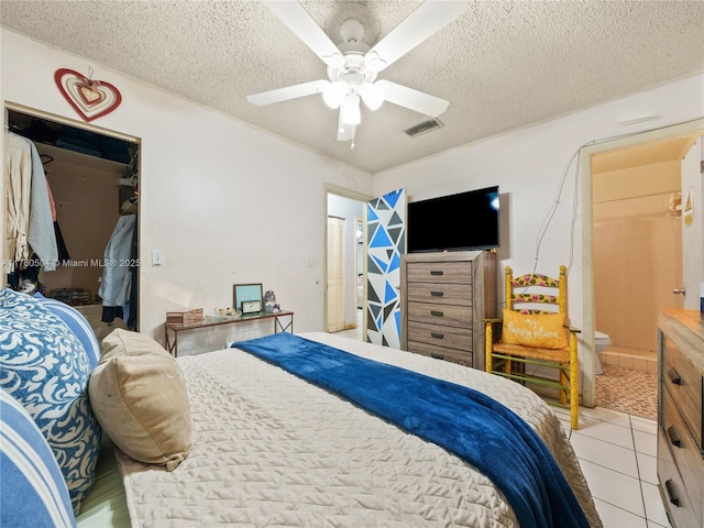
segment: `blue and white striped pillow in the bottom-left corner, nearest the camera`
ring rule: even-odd
[[[64,475],[25,408],[0,388],[0,526],[76,526]]]

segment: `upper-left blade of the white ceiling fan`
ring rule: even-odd
[[[296,0],[263,2],[276,16],[284,22],[298,38],[304,41],[312,53],[332,66],[344,64],[344,57],[338,46],[328,37],[324,31],[310,18]]]

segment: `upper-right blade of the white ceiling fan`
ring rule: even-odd
[[[383,70],[464,13],[469,6],[466,0],[427,0],[366,53],[367,66]]]

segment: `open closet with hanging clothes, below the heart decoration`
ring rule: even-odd
[[[139,143],[12,108],[6,122],[9,136],[29,140],[40,155],[57,255],[52,270],[30,246],[28,261],[3,270],[6,284],[74,306],[99,339],[116,327],[136,330]]]

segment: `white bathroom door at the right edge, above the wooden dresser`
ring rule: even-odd
[[[700,283],[704,282],[704,200],[702,199],[702,138],[682,160],[682,284],[673,292],[684,294],[683,307],[700,309]]]

